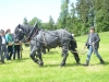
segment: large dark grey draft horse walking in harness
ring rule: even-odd
[[[56,31],[44,31],[36,28],[32,33],[33,27],[29,25],[21,25],[19,24],[15,27],[14,33],[19,40],[22,40],[24,37],[28,37],[31,34],[31,58],[34,62],[38,63],[39,66],[44,66],[44,61],[41,58],[41,49],[45,48],[62,48],[62,62],[60,66],[65,66],[65,60],[68,58],[68,50],[74,55],[76,63],[80,63],[78,54],[76,52],[76,42],[73,40],[73,36],[65,30],[56,30]],[[28,38],[27,38],[28,39]],[[35,58],[35,54],[38,54],[39,59]]]

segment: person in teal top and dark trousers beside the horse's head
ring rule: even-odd
[[[13,38],[11,36],[11,30],[8,28],[7,32],[5,32],[5,39],[7,39],[7,43],[8,43],[8,52],[9,52],[9,60],[11,60],[11,57],[13,55]]]

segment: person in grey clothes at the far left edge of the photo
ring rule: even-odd
[[[1,46],[0,46],[1,62],[5,63],[4,58],[8,58],[8,48],[7,48],[5,34],[3,30],[0,31],[0,35],[1,35]]]

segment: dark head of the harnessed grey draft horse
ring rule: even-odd
[[[16,27],[15,27],[15,31],[14,31],[15,35],[16,35],[16,38],[19,40],[22,40],[25,36],[25,32],[24,32],[24,27],[23,25],[19,24]]]

